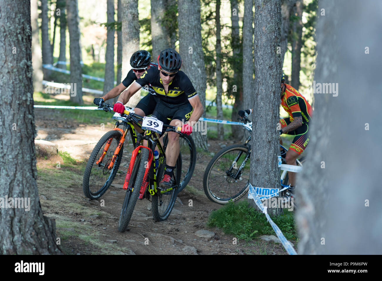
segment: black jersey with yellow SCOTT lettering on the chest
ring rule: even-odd
[[[190,79],[183,71],[178,71],[174,79],[168,84],[168,92],[165,93],[162,79],[159,76],[160,71],[157,67],[147,69],[137,83],[142,87],[150,84],[157,97],[163,102],[170,104],[180,104],[188,102],[188,99],[197,95]]]

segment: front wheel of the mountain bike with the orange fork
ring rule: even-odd
[[[122,159],[123,145],[118,153],[117,159],[114,162],[112,169],[108,169],[108,165],[112,161],[117,144],[121,139],[121,132],[117,130],[108,131],[95,145],[89,160],[87,161],[84,178],[83,178],[83,192],[84,195],[92,200],[101,197],[110,184],[113,182],[117,174],[119,165]],[[107,152],[100,163],[96,163],[102,153],[104,153],[105,145],[110,144]]]

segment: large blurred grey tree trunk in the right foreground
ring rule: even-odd
[[[382,3],[364,3],[319,2],[313,123],[308,158],[296,184],[299,254],[382,251],[382,37],[375,36],[382,26]],[[321,83],[333,84],[327,88]],[[349,122],[355,110],[354,122]]]

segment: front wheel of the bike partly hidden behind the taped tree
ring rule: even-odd
[[[204,172],[203,188],[208,199],[224,205],[230,200],[239,200],[248,192],[249,160],[235,176],[247,153],[248,147],[240,144],[230,145],[216,153]]]

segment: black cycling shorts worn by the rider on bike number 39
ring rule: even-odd
[[[157,106],[155,107],[153,116],[156,116],[163,124],[170,124],[171,120],[178,119],[185,123],[191,117],[193,111],[191,103],[187,102],[181,104],[170,104],[158,100]],[[167,120],[170,118],[171,120]]]

